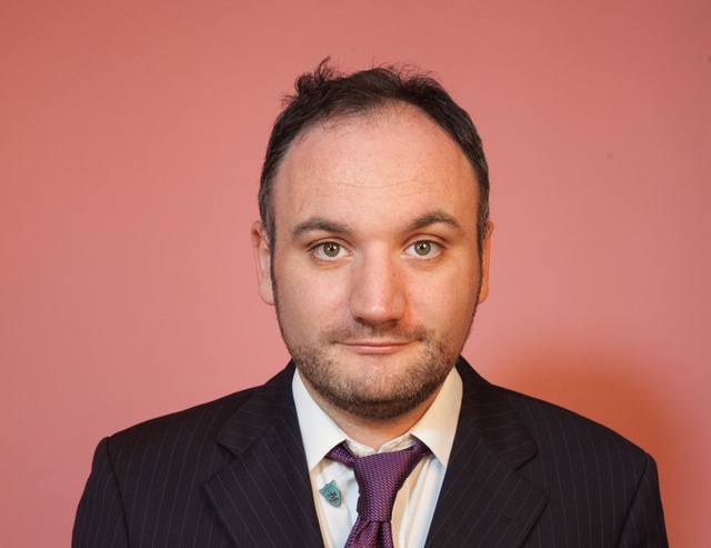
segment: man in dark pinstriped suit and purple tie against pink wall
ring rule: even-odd
[[[651,457],[460,358],[488,195],[477,130],[433,80],[302,76],[252,228],[292,362],[102,440],[73,545],[667,546]]]

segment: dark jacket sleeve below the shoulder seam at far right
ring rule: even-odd
[[[669,547],[657,465],[652,457],[645,457],[642,477],[622,528],[620,548]]]

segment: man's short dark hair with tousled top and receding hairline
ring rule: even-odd
[[[273,249],[276,222],[272,187],[277,170],[291,143],[329,118],[369,113],[393,102],[412,104],[428,114],[459,145],[477,176],[479,247],[489,221],[489,168],[481,139],[471,118],[427,73],[411,67],[381,66],[342,74],[323,60],[313,73],[300,76],[296,93],[284,99],[269,138],[259,187],[259,215]]]

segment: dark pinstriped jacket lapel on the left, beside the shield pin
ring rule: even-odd
[[[254,390],[220,431],[234,461],[204,484],[239,547],[322,547],[293,406],[293,365]]]

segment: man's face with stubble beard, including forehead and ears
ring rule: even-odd
[[[477,201],[462,151],[412,107],[293,142],[272,252],[259,223],[252,240],[260,295],[317,401],[370,420],[429,405],[487,296]]]

